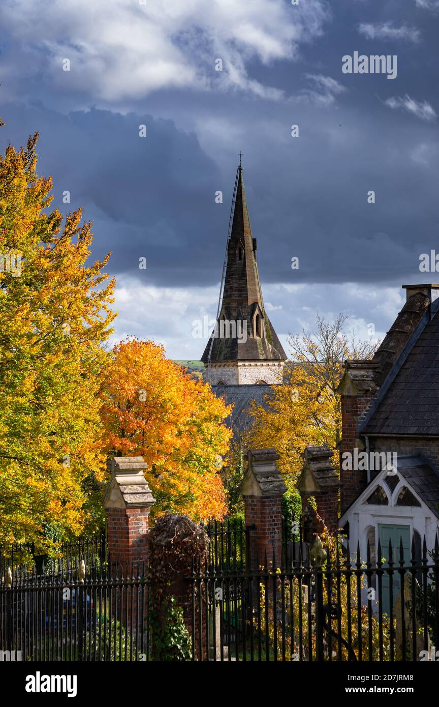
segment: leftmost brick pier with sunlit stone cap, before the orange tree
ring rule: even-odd
[[[148,517],[155,503],[143,457],[112,457],[112,477],[104,495],[107,542],[112,562],[143,563],[148,559]]]

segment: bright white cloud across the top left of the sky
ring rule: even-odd
[[[54,88],[107,101],[160,88],[239,88],[277,99],[282,92],[249,76],[249,62],[294,59],[327,18],[322,0],[2,0],[2,30],[13,40],[2,78],[42,75]]]

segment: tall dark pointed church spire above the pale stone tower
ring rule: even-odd
[[[267,317],[260,288],[258,264],[256,262],[256,239],[251,233],[246,190],[242,168],[239,167],[234,214],[230,238],[227,245],[227,268],[224,279],[220,319],[224,317],[242,326],[246,322],[246,341],[236,336],[224,337],[221,333],[213,341],[210,361],[286,361],[270,319]],[[253,317],[256,312],[265,322],[265,331],[253,336]],[[263,328],[263,327],[261,327]],[[212,337],[210,337],[201,361],[207,363]]]

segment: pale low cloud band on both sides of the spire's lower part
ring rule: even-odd
[[[289,351],[288,333],[300,333],[303,328],[313,331],[318,314],[333,320],[344,312],[349,315],[345,325],[349,335],[383,339],[404,304],[404,293],[397,286],[262,283],[262,287],[270,302],[265,308],[270,310],[285,351]],[[219,283],[210,287],[155,287],[118,276],[114,308],[119,316],[112,342],[128,336],[152,339],[164,344],[169,358],[198,360],[210,335],[208,322],[215,320],[219,288]],[[198,322],[197,327],[194,322]]]

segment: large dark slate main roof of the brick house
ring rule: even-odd
[[[363,435],[439,436],[438,300],[360,425]],[[396,375],[395,375],[396,373]],[[390,382],[391,380],[391,382]]]

